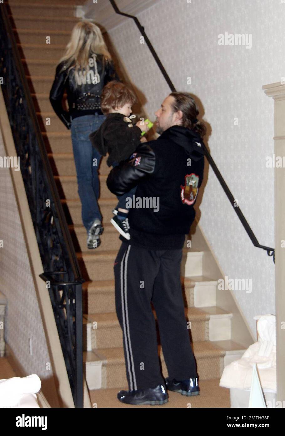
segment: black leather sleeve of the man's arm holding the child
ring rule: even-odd
[[[147,143],[139,145],[130,160],[124,160],[111,170],[107,178],[107,187],[116,195],[136,186],[141,179],[151,175],[155,168],[155,154]]]

